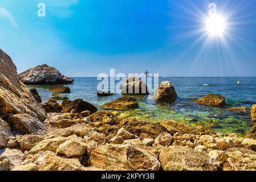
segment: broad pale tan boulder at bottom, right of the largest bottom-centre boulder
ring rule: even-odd
[[[159,155],[165,171],[210,171],[209,156],[185,146],[163,148]]]

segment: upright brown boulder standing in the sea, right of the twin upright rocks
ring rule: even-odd
[[[157,102],[173,102],[177,98],[177,93],[169,81],[163,81],[156,89],[154,97]]]

